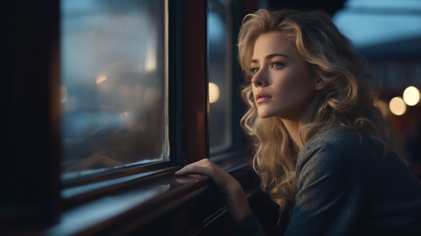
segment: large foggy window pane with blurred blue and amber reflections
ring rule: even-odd
[[[166,0],[61,0],[61,179],[168,161]]]

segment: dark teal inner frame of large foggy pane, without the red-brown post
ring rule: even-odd
[[[59,2],[59,0],[58,0]],[[94,182],[105,182],[107,180],[113,180],[120,177],[127,177],[134,174],[141,174],[145,172],[152,172],[147,176],[143,176],[139,179],[120,182],[118,184],[105,185],[101,189],[86,190],[83,193],[80,193],[77,196],[70,198],[64,198],[66,204],[75,204],[79,201],[89,201],[95,197],[101,197],[104,193],[113,191],[119,188],[132,185],[133,182],[141,182],[142,185],[147,184],[152,181],[156,181],[164,176],[168,176],[171,171],[175,172],[178,169],[180,164],[183,164],[182,156],[180,155],[180,147],[177,140],[179,140],[179,134],[181,134],[181,96],[182,94],[181,84],[182,77],[179,73],[179,64],[182,63],[180,59],[182,51],[180,45],[180,35],[176,31],[176,28],[180,27],[180,19],[177,19],[177,15],[180,15],[180,9],[177,8],[177,5],[174,1],[165,0],[165,11],[164,14],[167,19],[165,19],[165,64],[166,64],[166,75],[165,75],[165,86],[168,93],[165,94],[165,102],[167,103],[167,115],[168,115],[168,142],[170,145],[169,158],[170,161],[161,161],[151,164],[137,164],[133,166],[122,166],[120,168],[115,168],[112,170],[107,170],[104,172],[98,172],[95,174],[89,174],[85,177],[78,177],[75,179],[62,181],[60,190],[61,195],[64,190],[69,188],[75,188],[76,186],[88,186]],[[58,35],[60,37],[60,35]],[[169,63],[170,61],[175,61],[176,64]],[[176,97],[177,99],[171,99]],[[60,110],[60,107],[58,108]]]

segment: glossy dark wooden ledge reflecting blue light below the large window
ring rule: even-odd
[[[93,235],[121,222],[126,222],[124,228],[129,231],[199,196],[208,190],[208,183],[209,177],[205,175],[171,176],[125,193],[105,196],[64,211],[59,223],[41,235]]]

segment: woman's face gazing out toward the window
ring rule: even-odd
[[[260,35],[250,68],[255,74],[253,96],[261,118],[297,118],[323,87],[306,68],[304,59],[280,32]]]

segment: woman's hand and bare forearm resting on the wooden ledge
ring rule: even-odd
[[[176,175],[191,173],[205,174],[213,180],[219,191],[225,196],[226,206],[234,225],[251,212],[240,183],[209,159],[202,159],[184,166],[176,172]]]

